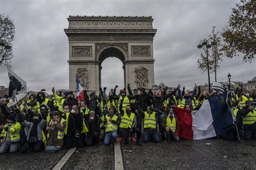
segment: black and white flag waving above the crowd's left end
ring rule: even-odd
[[[17,74],[12,71],[10,67],[6,67],[8,70],[8,76],[10,79],[9,84],[9,103],[8,107],[11,107],[12,105],[16,104],[20,100],[22,100],[23,97],[26,96],[26,82],[21,79]]]

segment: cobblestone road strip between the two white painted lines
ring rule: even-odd
[[[114,146],[78,148],[63,169],[114,169]]]

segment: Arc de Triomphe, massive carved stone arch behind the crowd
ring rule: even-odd
[[[69,16],[68,21],[64,32],[69,38],[70,90],[76,91],[77,76],[84,89],[98,94],[101,65],[110,56],[123,62],[125,87],[127,83],[132,89],[153,86],[157,30],[152,17]]]

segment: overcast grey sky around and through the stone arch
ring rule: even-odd
[[[212,26],[222,31],[228,24],[231,7],[238,1],[23,1],[1,0],[0,12],[15,23],[12,69],[27,83],[28,90],[50,91],[69,87],[68,18],[74,16],[152,16],[154,36],[154,80],[167,86],[192,88],[207,83],[207,73],[197,68],[202,52],[200,40],[211,34]],[[112,65],[110,67],[110,65]],[[114,67],[113,67],[114,65]],[[102,86],[123,86],[122,62],[107,58],[103,62]],[[115,72],[113,76],[113,72]],[[247,82],[256,76],[256,62],[246,63],[242,56],[225,58],[217,81]],[[211,82],[214,80],[211,75]],[[9,86],[8,73],[0,68],[0,86]]]

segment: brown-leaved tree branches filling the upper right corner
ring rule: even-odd
[[[256,51],[256,1],[240,0],[232,13],[222,36],[224,38],[224,54],[232,58],[239,53],[244,54],[243,60],[250,61],[254,59]]]

